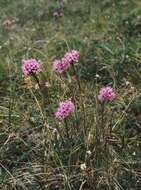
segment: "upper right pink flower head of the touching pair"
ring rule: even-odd
[[[70,52],[65,53],[64,58],[70,64],[78,62],[80,58],[80,53],[77,50],[72,50]]]

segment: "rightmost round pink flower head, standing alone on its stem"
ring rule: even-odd
[[[116,94],[114,90],[112,89],[112,87],[110,86],[101,88],[98,95],[98,99],[100,102],[104,102],[104,101],[111,102],[115,99],[115,97],[116,97]]]

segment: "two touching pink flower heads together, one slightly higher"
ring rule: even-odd
[[[62,59],[57,59],[53,62],[53,71],[57,73],[66,72],[72,63],[78,62],[80,54],[76,50],[65,53]]]

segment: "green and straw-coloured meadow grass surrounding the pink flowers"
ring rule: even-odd
[[[55,18],[58,9],[63,16]],[[141,188],[140,12],[140,0],[66,0],[63,7],[59,0],[0,0],[0,189]],[[7,27],[6,20],[14,22]],[[80,51],[82,93],[72,70],[64,78],[52,72],[53,60],[71,49]],[[35,81],[26,84],[22,76],[22,60],[31,57],[43,64],[50,83],[43,113]],[[107,149],[96,138],[101,121],[96,97],[104,85],[117,93],[104,118],[105,129],[113,129]],[[68,121],[70,140],[53,113],[60,100],[71,97],[77,111]]]

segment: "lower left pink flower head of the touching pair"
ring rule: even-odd
[[[65,71],[67,71],[67,69],[69,68],[69,63],[63,58],[63,59],[56,59],[53,62],[53,71],[57,72],[57,73],[63,73]]]

